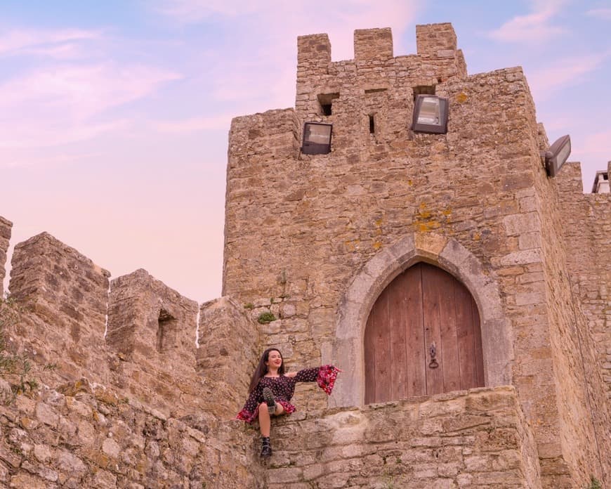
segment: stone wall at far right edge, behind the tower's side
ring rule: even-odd
[[[579,181],[577,181],[579,180]],[[567,411],[575,417],[586,416],[593,422],[593,433],[588,440],[592,451],[598,452],[600,470],[611,474],[611,462],[606,454],[611,453],[611,398],[609,372],[611,370],[611,313],[608,287],[611,284],[611,198],[608,194],[579,193],[582,175],[578,164],[565,164],[555,179],[561,222],[558,232],[563,233],[567,248],[567,269],[561,275],[570,282],[564,304],[579,304],[567,311],[572,327],[566,336],[572,337],[563,349],[578,353],[567,372],[582,370],[583,377],[575,391],[581,393],[579,404],[582,414],[576,412],[570,396],[567,396]],[[581,216],[578,217],[581,213]],[[581,369],[579,369],[581,367]]]

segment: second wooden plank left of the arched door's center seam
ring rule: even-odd
[[[390,400],[407,397],[408,362],[405,330],[407,298],[405,273],[388,285],[388,325],[390,330]]]

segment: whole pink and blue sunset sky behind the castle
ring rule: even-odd
[[[591,188],[611,159],[608,1],[1,2],[13,245],[46,230],[113,277],[146,268],[218,296],[232,117],[294,105],[298,35],[326,32],[337,61],[354,30],[391,27],[401,56],[432,22],[452,22],[471,74],[523,67],[537,119],[551,141],[570,133]]]

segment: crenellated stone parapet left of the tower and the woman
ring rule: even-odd
[[[1,223],[5,236],[10,223],[4,218]],[[237,376],[234,371],[216,370],[226,352],[206,348],[205,339],[217,325],[209,325],[205,315],[197,324],[196,301],[143,269],[109,278],[108,270],[48,233],[15,246],[9,289],[26,312],[15,329],[3,334],[10,334],[13,350],[41,366],[55,366],[42,374],[46,382],[86,378],[121,389],[166,415],[204,408],[216,412],[209,386],[202,382],[209,372],[216,371],[215,382],[241,377],[246,382],[246,369]],[[254,329],[245,315],[244,320],[244,331]],[[200,365],[197,330],[206,348],[206,361],[200,355]],[[230,341],[254,348],[256,336],[239,338]],[[209,341],[213,343],[212,338]],[[244,351],[237,360],[254,361]],[[227,396],[223,406],[237,410],[239,400],[235,394]]]

